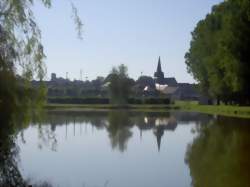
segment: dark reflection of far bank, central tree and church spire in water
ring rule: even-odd
[[[34,118],[32,125],[38,126],[38,147],[40,149],[45,146],[52,151],[57,151],[58,141],[55,133],[57,126],[64,126],[65,139],[68,138],[69,132],[73,132],[73,136],[81,136],[84,130],[86,134],[87,127],[91,126],[92,130],[106,130],[111,147],[120,152],[126,151],[128,141],[133,136],[131,131],[133,127],[137,127],[140,130],[140,138],[142,138],[144,131],[150,130],[156,137],[157,150],[160,151],[164,131],[174,132],[178,123],[187,124],[195,122],[199,124],[209,120],[211,120],[210,116],[199,113],[141,113],[126,110],[110,112],[48,111],[46,116],[42,119],[40,118],[39,121]],[[23,137],[22,139],[25,142]]]

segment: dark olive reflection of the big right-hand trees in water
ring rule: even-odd
[[[192,185],[249,186],[249,120],[219,117],[196,130],[198,136],[188,146],[185,159]]]

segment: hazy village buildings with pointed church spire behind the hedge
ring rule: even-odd
[[[132,87],[131,97],[166,97],[171,100],[199,100],[200,94],[196,85],[178,83],[175,77],[165,77],[159,57],[153,76],[140,76]],[[97,78],[92,81],[69,80],[51,74],[49,81],[44,81],[48,88],[48,97],[108,97],[107,78]],[[40,81],[32,81],[34,87],[39,87]]]

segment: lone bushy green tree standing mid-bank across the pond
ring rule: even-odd
[[[127,104],[133,80],[128,77],[128,69],[121,64],[113,68],[107,78],[112,104]]]

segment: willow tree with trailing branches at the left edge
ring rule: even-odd
[[[42,80],[46,74],[41,30],[32,9],[35,2],[50,8],[52,0],[0,1],[0,109],[18,103],[27,94],[32,96],[27,83],[33,77]],[[81,38],[83,24],[71,1],[69,6]]]

